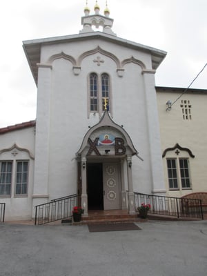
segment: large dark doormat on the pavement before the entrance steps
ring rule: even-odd
[[[130,231],[141,230],[133,222],[117,223],[117,224],[88,224],[89,232],[110,232],[110,231]]]

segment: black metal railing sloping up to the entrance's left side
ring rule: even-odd
[[[34,224],[48,224],[72,216],[72,209],[78,204],[78,195],[68,195],[52,199],[45,204],[35,206]]]

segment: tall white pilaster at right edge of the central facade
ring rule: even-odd
[[[142,73],[144,75],[144,88],[146,95],[152,193],[166,193],[163,163],[161,159],[159,117],[155,90],[155,71],[145,70]]]

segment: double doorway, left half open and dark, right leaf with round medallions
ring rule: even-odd
[[[120,209],[120,169],[118,163],[87,164],[89,210]]]

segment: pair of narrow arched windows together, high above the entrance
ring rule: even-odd
[[[111,109],[110,77],[107,73],[90,73],[88,77],[88,117],[90,113],[99,113]]]

